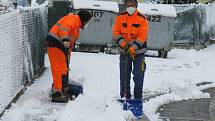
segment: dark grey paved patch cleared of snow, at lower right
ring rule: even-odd
[[[157,113],[164,121],[215,121],[215,88],[203,92],[210,93],[211,98],[171,102]]]

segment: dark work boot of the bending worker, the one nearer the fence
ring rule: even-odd
[[[67,103],[69,98],[65,95],[63,95],[61,92],[54,92],[52,94],[52,102],[58,102],[58,103]]]

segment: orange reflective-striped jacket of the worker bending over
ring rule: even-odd
[[[63,39],[69,39],[71,43],[74,43],[78,39],[80,27],[80,17],[74,14],[68,14],[51,28],[49,35],[61,43]]]

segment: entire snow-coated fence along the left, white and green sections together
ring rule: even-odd
[[[47,4],[0,15],[0,114],[44,69]]]

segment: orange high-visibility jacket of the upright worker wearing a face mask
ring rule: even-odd
[[[123,12],[116,17],[113,35],[121,48],[128,44],[135,50],[135,54],[145,53],[147,33],[148,21],[139,11],[131,16]]]

